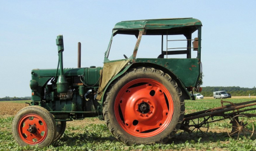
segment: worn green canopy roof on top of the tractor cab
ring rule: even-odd
[[[195,18],[169,18],[169,19],[146,19],[138,21],[118,22],[113,30],[132,30],[132,29],[169,29],[177,27],[201,26],[202,23]]]

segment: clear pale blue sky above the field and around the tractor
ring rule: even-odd
[[[103,66],[116,22],[197,18],[203,23],[203,86],[256,85],[256,1],[2,1],[0,97],[31,95],[30,71],[56,68],[56,36],[64,36],[64,67]]]

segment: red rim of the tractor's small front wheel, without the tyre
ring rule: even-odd
[[[21,139],[30,145],[42,143],[47,136],[47,124],[36,114],[28,114],[19,120],[18,133]]]

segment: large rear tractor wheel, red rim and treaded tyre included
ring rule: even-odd
[[[175,80],[154,68],[136,68],[110,86],[103,115],[110,132],[126,144],[165,143],[184,117]]]

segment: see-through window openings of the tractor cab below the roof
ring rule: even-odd
[[[155,30],[153,35],[142,35],[136,58],[197,58],[198,51],[193,51],[192,46],[195,38],[192,39],[181,34],[166,35],[167,31],[161,35],[162,33],[156,34],[157,31]],[[195,31],[190,36],[196,37],[198,32]],[[116,32],[112,37],[106,57],[109,60],[125,59],[124,55],[128,58],[131,57],[136,48],[137,40],[138,37],[135,34],[119,34]]]

